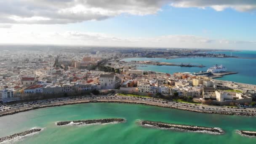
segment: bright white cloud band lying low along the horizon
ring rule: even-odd
[[[116,37],[92,32],[15,32],[0,35],[1,42],[16,44],[94,45],[163,48],[231,48],[255,49],[256,41],[218,40],[196,35],[163,35],[157,37]]]

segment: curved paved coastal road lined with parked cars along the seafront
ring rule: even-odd
[[[144,98],[144,97],[134,97],[134,96],[77,96],[71,98],[59,98],[59,99],[47,99],[47,100],[40,100],[40,101],[32,101],[26,102],[21,104],[13,104],[9,106],[5,106],[5,110],[0,109],[0,114],[5,112],[13,112],[20,109],[27,109],[31,107],[40,107],[40,106],[47,106],[47,105],[54,105],[54,104],[61,104],[61,103],[72,103],[77,101],[124,101],[124,102],[140,102],[144,104],[150,105],[158,105],[162,107],[173,107],[173,108],[186,108],[186,109],[194,109],[194,110],[201,110],[201,111],[212,111],[212,112],[233,112],[233,113],[254,113],[256,114],[256,109],[235,109],[235,108],[226,108],[226,107],[218,107],[218,106],[207,106],[207,105],[198,105],[198,104],[187,104],[187,103],[180,103],[176,101],[165,101],[162,99],[155,99],[155,98]]]

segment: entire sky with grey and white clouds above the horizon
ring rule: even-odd
[[[256,50],[256,0],[0,0],[0,44]]]

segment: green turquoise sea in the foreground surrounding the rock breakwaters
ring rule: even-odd
[[[122,117],[126,123],[61,126],[56,121]],[[162,121],[222,128],[224,135],[144,128],[137,120]],[[256,138],[242,137],[236,129],[256,131],[256,117],[203,114],[135,104],[89,103],[50,107],[0,117],[0,137],[44,128],[19,144],[252,144]]]

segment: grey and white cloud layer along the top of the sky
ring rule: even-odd
[[[0,0],[0,23],[68,24],[104,20],[126,13],[149,15],[163,5],[179,8],[206,8],[216,11],[233,8],[256,10],[256,0]]]

